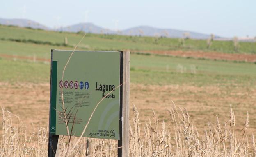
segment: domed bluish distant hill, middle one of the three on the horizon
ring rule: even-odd
[[[75,24],[72,26],[68,27],[61,27],[57,29],[57,31],[67,31],[67,32],[87,32],[87,33],[96,33],[96,34],[116,34],[117,32],[111,31],[109,29],[104,29],[102,27],[98,27],[92,23],[80,23],[80,24]]]

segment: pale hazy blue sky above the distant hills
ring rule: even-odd
[[[147,25],[256,36],[256,0],[3,0],[0,18],[27,18],[52,28],[92,22],[114,30]]]

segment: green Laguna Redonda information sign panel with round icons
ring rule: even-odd
[[[119,115],[122,105],[122,52],[52,50],[50,133],[81,136],[95,106],[83,137],[120,139]],[[62,72],[64,71],[63,80]],[[63,91],[63,99],[62,99]],[[111,92],[112,91],[112,92]],[[111,93],[110,93],[111,92]],[[109,95],[107,95],[110,93]],[[62,100],[64,100],[64,110]]]

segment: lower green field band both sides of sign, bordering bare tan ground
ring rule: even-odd
[[[256,64],[131,55],[130,80],[139,84],[254,86]],[[49,82],[50,64],[1,58],[0,82]]]

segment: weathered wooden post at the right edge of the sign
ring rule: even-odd
[[[130,99],[130,52],[124,51],[123,53],[123,85],[122,88],[122,106],[120,117],[120,140],[118,140],[117,156],[129,156],[129,99]],[[122,69],[121,69],[122,70]]]

